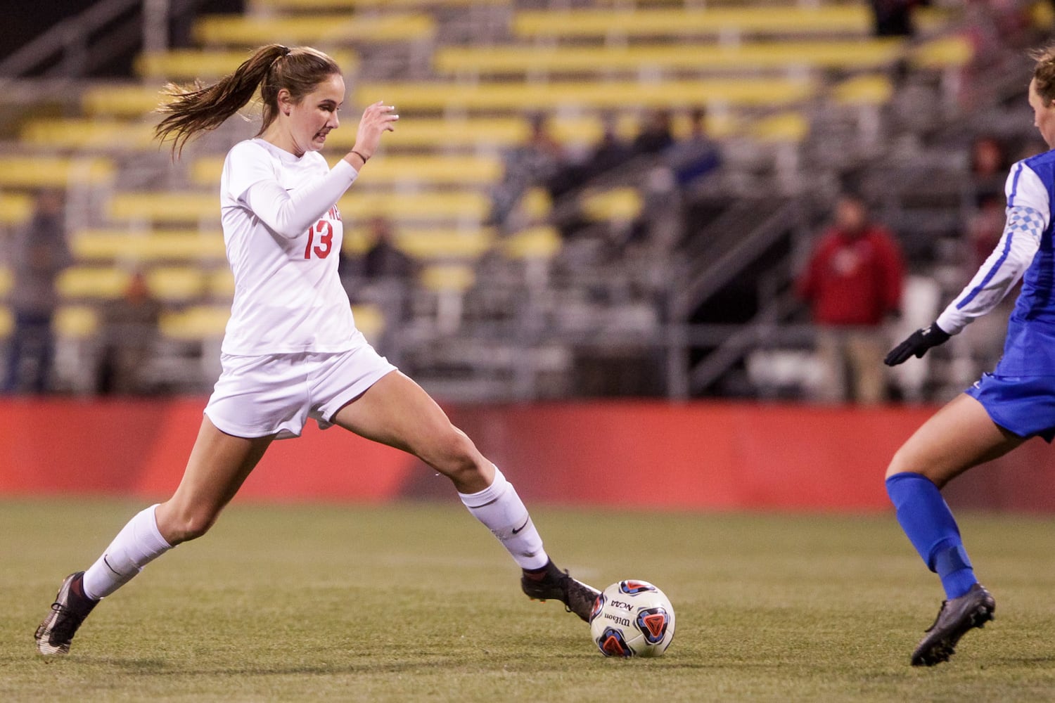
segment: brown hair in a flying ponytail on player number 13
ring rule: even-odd
[[[333,59],[310,46],[261,46],[234,73],[212,85],[195,83],[188,89],[168,83],[162,93],[174,99],[157,109],[166,117],[154,129],[154,136],[161,142],[171,138],[172,153],[179,156],[188,139],[223,124],[252,99],[257,87],[264,105],[256,133],[260,136],[277,115],[279,91],[286,89],[293,102],[300,102],[328,77],[340,73]]]

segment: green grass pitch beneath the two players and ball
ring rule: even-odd
[[[0,701],[1051,701],[1055,522],[967,515],[997,621],[951,664],[908,666],[941,601],[893,516],[535,512],[601,587],[653,581],[667,655],[602,658],[588,626],[519,592],[457,504],[235,503],[44,660],[61,579],[140,506],[0,502]]]

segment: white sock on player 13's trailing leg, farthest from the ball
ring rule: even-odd
[[[157,530],[156,508],[152,505],[136,513],[102,556],[84,571],[84,595],[93,601],[110,595],[142,571],[142,567],[172,549]]]

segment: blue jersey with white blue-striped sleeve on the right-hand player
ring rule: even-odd
[[[1022,280],[995,374],[1055,376],[1055,151],[1015,163],[1004,190],[1008,219],[1000,241],[938,326],[958,333]]]

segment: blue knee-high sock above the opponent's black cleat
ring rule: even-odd
[[[898,510],[898,523],[908,541],[941,578],[950,599],[959,598],[978,582],[960,539],[960,528],[941,491],[919,473],[896,473],[886,480],[886,492]]]

